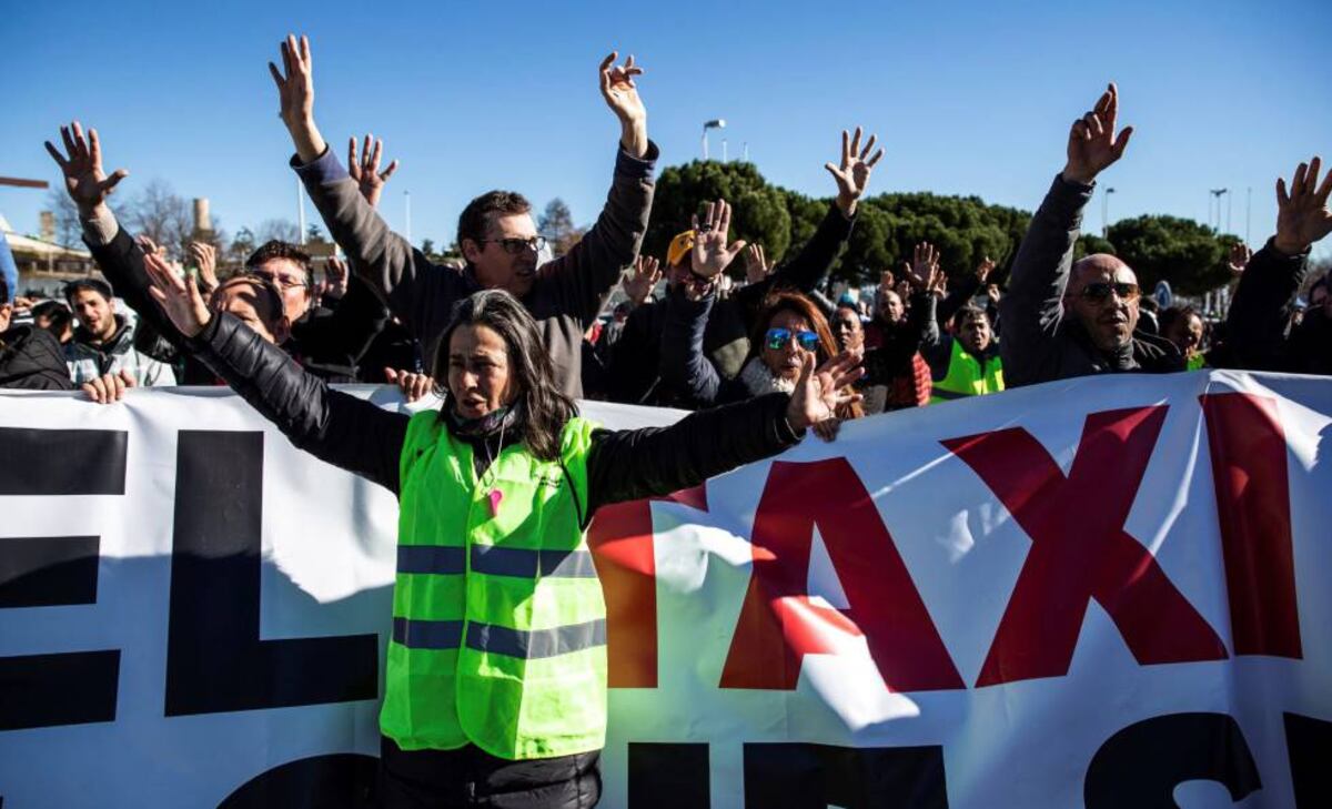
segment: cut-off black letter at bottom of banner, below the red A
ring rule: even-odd
[[[947,809],[943,748],[746,744],[745,809]]]

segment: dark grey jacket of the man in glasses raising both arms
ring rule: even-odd
[[[583,331],[642,246],[653,206],[657,156],[655,144],[649,144],[642,160],[623,149],[618,152],[615,177],[597,224],[566,255],[537,270],[537,281],[523,299],[541,329],[555,378],[570,397],[582,397]],[[389,230],[332,149],[306,165],[293,157],[292,168],[305,182],[333,241],[346,250],[353,270],[421,341],[426,369],[434,367],[436,343],[449,322],[450,309],[481,289],[476,278],[466,270],[430,263],[424,253]]]

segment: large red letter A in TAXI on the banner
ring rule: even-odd
[[[810,548],[819,527],[851,604],[810,600]],[[805,655],[864,635],[896,692],[966,688],[874,500],[844,458],[773,463],[754,518],[754,575],[722,671],[722,688],[793,691]]]

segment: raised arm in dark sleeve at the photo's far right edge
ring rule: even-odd
[[[1229,345],[1251,370],[1292,370],[1288,329],[1295,298],[1308,273],[1309,249],[1332,232],[1332,172],[1319,185],[1317,157],[1295,169],[1287,189],[1276,181],[1276,236],[1253,254],[1240,275],[1227,318]]]

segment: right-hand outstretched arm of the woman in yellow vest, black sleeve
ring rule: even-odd
[[[587,458],[589,516],[607,503],[667,495],[794,446],[806,427],[831,420],[859,399],[860,377],[842,354],[815,370],[807,354],[795,393],[769,394],[690,414],[670,427],[593,434]]]

